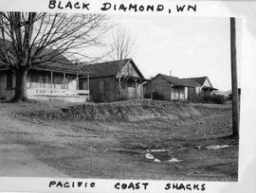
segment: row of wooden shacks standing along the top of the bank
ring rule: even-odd
[[[113,101],[117,97],[143,98],[157,92],[166,100],[187,100],[189,96],[212,95],[208,77],[179,79],[158,74],[145,79],[135,61],[106,61],[82,67],[67,60],[32,67],[27,73],[26,96],[38,100],[85,102]],[[15,74],[0,65],[0,98],[14,95]]]

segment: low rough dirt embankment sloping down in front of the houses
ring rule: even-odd
[[[229,109],[227,110],[229,111]],[[101,104],[87,103],[56,108],[54,111],[29,111],[19,115],[52,120],[139,121],[153,118],[184,119],[187,117],[210,115],[212,111],[216,113],[216,111],[223,112],[224,110],[218,106],[208,107],[184,102],[127,100]]]

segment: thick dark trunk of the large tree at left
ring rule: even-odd
[[[16,71],[16,85],[15,85],[15,94],[10,102],[18,102],[21,100],[26,100],[26,78],[27,70],[18,70]]]

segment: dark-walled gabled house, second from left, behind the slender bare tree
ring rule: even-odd
[[[94,101],[113,101],[119,96],[143,98],[142,84],[147,79],[132,59],[93,63],[85,68],[89,72],[90,94]],[[86,77],[80,79],[81,89],[87,81]]]

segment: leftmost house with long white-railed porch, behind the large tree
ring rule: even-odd
[[[79,77],[87,76],[83,90]],[[89,99],[89,75],[63,55],[58,61],[34,66],[27,72],[26,93],[29,99],[61,100],[64,102],[85,102]],[[14,96],[15,73],[0,66],[0,99]]]

